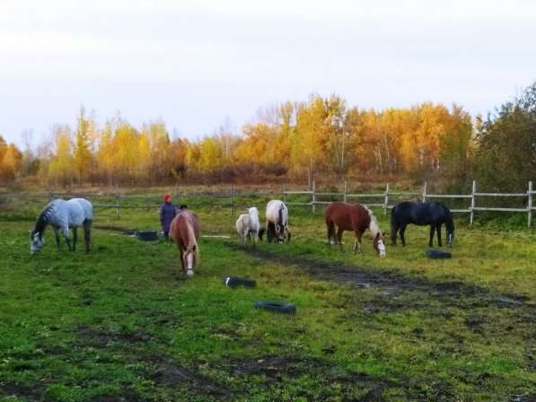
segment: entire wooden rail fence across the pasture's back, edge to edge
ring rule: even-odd
[[[472,190],[470,194],[429,194],[427,193],[427,184],[426,182],[423,185],[421,192],[413,191],[391,191],[390,185],[385,186],[385,191],[382,193],[348,193],[348,183],[344,183],[343,192],[321,192],[316,191],[316,184],[312,180],[312,187],[310,190],[288,190],[286,184],[283,185],[282,192],[249,192],[249,193],[240,193],[236,192],[233,187],[230,188],[230,191],[221,191],[221,192],[181,192],[179,193],[179,188],[175,188],[175,197],[212,197],[220,199],[229,199],[229,203],[224,206],[231,208],[231,214],[234,214],[234,211],[238,207],[248,206],[242,205],[240,203],[240,198],[247,197],[267,197],[273,198],[277,195],[283,195],[283,200],[287,205],[298,205],[298,206],[308,206],[311,208],[312,212],[316,211],[317,205],[327,205],[331,201],[325,201],[322,197],[338,197],[341,201],[347,201],[348,198],[367,198],[374,201],[373,198],[376,198],[381,202],[365,202],[364,205],[370,207],[381,207],[384,214],[387,214],[387,211],[391,209],[394,205],[392,204],[393,197],[419,197],[423,201],[429,198],[449,198],[449,199],[468,199],[470,200],[470,205],[467,208],[453,208],[451,211],[457,214],[470,214],[470,224],[474,222],[475,212],[480,211],[492,211],[492,212],[505,212],[505,213],[526,213],[527,214],[527,224],[528,227],[532,227],[532,211],[536,211],[536,207],[533,206],[533,195],[536,195],[536,191],[533,190],[532,181],[528,183],[528,189],[523,193],[485,193],[477,192],[477,183],[473,180]],[[122,195],[122,194],[57,194],[57,193],[29,193],[22,192],[16,194],[0,194],[2,197],[21,197],[22,195],[28,195],[27,197],[30,201],[35,200],[36,203],[42,204],[42,198],[52,199],[54,197],[90,197],[93,200],[93,206],[97,209],[115,209],[116,217],[119,218],[121,209],[150,209],[157,208],[160,206],[160,203],[157,202],[158,198],[155,196],[134,196],[134,195]],[[308,196],[311,197],[310,201],[289,201],[287,196]],[[482,197],[521,197],[526,198],[525,207],[504,207],[504,206],[477,206],[477,198]],[[320,198],[320,199],[319,199]],[[131,203],[138,201],[140,205],[132,205]]]

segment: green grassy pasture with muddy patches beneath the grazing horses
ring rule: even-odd
[[[346,252],[331,249],[321,211],[296,207],[292,243],[254,250],[238,244],[229,209],[188,203],[204,235],[231,235],[201,239],[189,280],[171,243],[118,230],[157,229],[156,209],[100,211],[90,255],[58,251],[48,230],[31,256],[38,206],[4,205],[0,400],[536,398],[534,232],[459,221],[453,258],[439,261],[412,226],[408,246],[388,243],[380,259],[368,238],[352,255],[349,233]],[[227,288],[227,275],[258,286]]]

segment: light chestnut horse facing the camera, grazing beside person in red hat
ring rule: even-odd
[[[182,272],[188,276],[194,275],[199,262],[199,227],[198,215],[180,205],[179,214],[171,221],[170,236],[179,249]]]

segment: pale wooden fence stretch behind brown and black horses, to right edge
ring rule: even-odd
[[[536,210],[536,207],[532,206],[532,196],[536,194],[536,191],[532,189],[532,181],[529,181],[527,186],[527,191],[523,193],[482,193],[477,192],[477,182],[473,180],[472,190],[470,194],[430,194],[427,192],[427,184],[424,183],[422,187],[422,192],[400,192],[400,191],[390,191],[389,183],[385,186],[385,191],[382,193],[359,193],[352,194],[348,193],[348,183],[344,183],[344,192],[318,192],[316,191],[316,185],[314,180],[312,181],[311,190],[306,191],[289,191],[286,188],[286,185],[283,186],[283,200],[287,205],[308,205],[311,207],[312,213],[316,211],[316,205],[325,205],[330,204],[331,201],[320,201],[319,197],[339,197],[340,201],[351,201],[356,198],[362,200],[366,198],[376,198],[376,200],[382,200],[382,202],[367,203],[365,201],[362,204],[373,207],[378,206],[383,208],[384,214],[387,214],[387,210],[391,209],[394,205],[390,204],[392,197],[419,197],[425,202],[428,199],[434,198],[454,198],[454,199],[469,199],[470,205],[467,208],[462,209],[451,209],[454,213],[466,213],[470,214],[470,224],[474,222],[475,211],[495,211],[495,212],[523,212],[527,214],[527,224],[530,228],[532,226],[532,211]],[[289,202],[287,201],[286,196],[292,195],[307,195],[311,197],[309,202]],[[490,207],[490,206],[477,206],[476,198],[477,197],[526,197],[527,202],[523,208],[512,208],[512,207]]]

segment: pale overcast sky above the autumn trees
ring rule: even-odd
[[[536,2],[0,0],[0,135],[163,118],[196,138],[259,107],[337,93],[474,116],[536,80]]]

